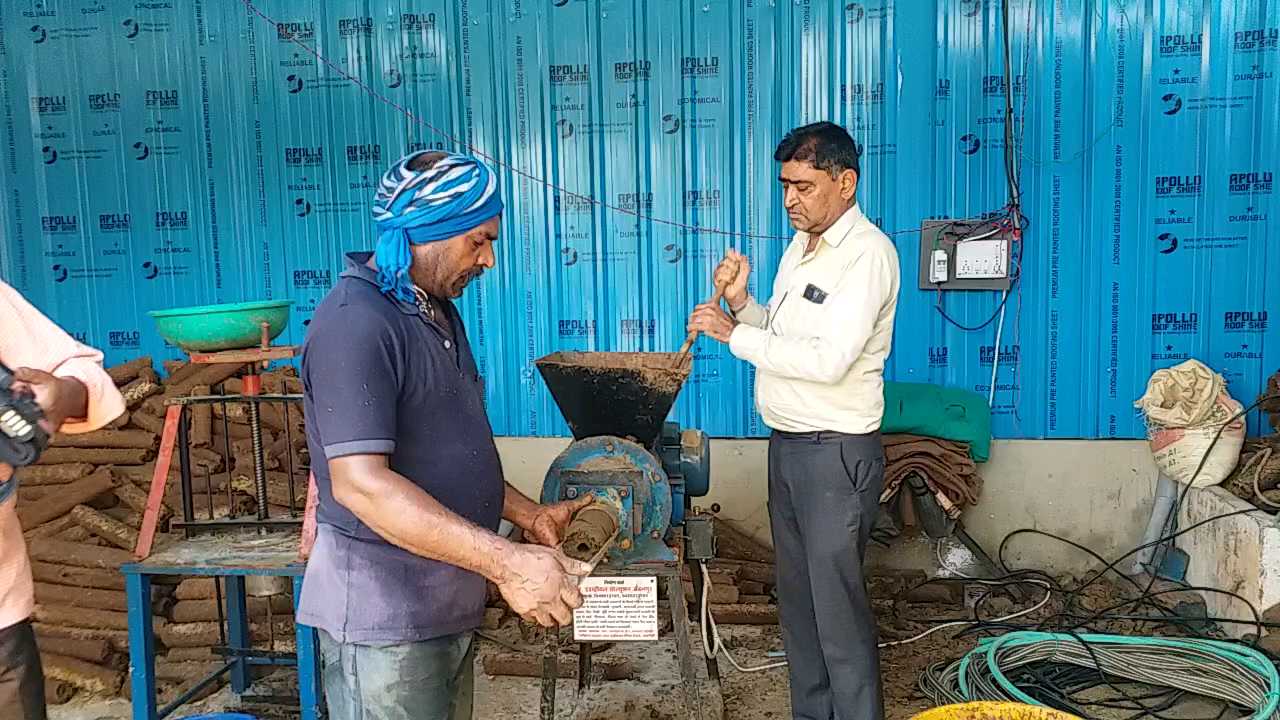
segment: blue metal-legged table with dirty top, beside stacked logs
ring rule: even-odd
[[[133,720],[160,720],[197,693],[230,674],[232,691],[243,694],[252,685],[253,665],[296,665],[298,705],[302,720],[319,720],[319,652],[315,629],[294,624],[297,652],[293,659],[256,652],[251,647],[250,616],[244,592],[247,577],[284,577],[293,583],[293,603],[302,593],[297,532],[259,534],[253,530],[198,536],[175,542],[146,560],[120,568],[125,578],[129,614],[129,683]],[[218,671],[189,688],[182,697],[156,708],[155,628],[151,618],[151,580],[156,575],[221,578],[227,588],[227,641],[229,657]]]

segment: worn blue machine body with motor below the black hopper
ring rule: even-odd
[[[705,433],[666,423],[652,448],[613,436],[573,441],[548,469],[541,502],[594,495],[613,507],[618,541],[605,565],[673,562],[668,534],[684,524],[687,498],[707,495],[709,479]]]

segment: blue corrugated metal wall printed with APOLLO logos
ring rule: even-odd
[[[790,127],[851,129],[886,231],[1006,200],[998,0],[256,8],[287,32],[233,0],[0,8],[0,270],[110,361],[174,356],[145,311],[175,305],[292,297],[301,341],[340,254],[371,242],[383,168],[454,146],[428,124],[520,170],[499,268],[465,301],[503,434],[564,432],[535,357],[678,345],[731,240],[650,218],[788,234],[771,152]],[[1248,402],[1280,347],[1280,3],[1011,15],[1023,282],[995,348],[996,324],[948,327],[915,290],[916,236],[896,234],[890,375],[986,393],[998,359],[1002,437],[1138,437],[1146,378],[1190,356]],[[772,278],[783,240],[732,242]],[[946,299],[965,323],[997,301]],[[703,341],[695,373],[682,420],[762,433],[748,368]]]

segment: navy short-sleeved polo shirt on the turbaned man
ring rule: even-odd
[[[307,448],[320,503],[300,623],[339,642],[401,643],[472,630],[485,580],[396,547],[333,498],[326,460],[387,455],[453,512],[497,530],[504,483],[462,318],[451,338],[378,288],[367,252],[316,307],[302,348]]]

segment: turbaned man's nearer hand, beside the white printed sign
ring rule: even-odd
[[[582,606],[579,579],[591,566],[573,560],[557,548],[512,544],[503,557],[498,591],[511,609],[544,628],[568,625],[573,610]]]

